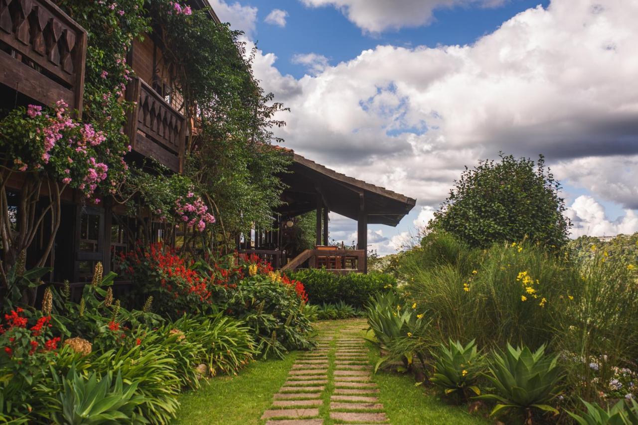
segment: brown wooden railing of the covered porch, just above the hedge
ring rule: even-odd
[[[307,249],[290,260],[281,271],[295,270],[308,263],[308,268],[326,267],[332,273],[365,273],[366,251],[362,249]]]

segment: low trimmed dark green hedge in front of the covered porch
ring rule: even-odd
[[[307,269],[289,271],[287,274],[290,278],[303,282],[309,303],[314,305],[344,301],[355,308],[361,308],[371,294],[392,291],[397,284],[394,277],[379,271],[370,271],[367,275],[335,275],[327,270]]]

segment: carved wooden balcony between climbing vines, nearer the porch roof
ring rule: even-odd
[[[133,150],[181,173],[186,141],[184,116],[141,78],[131,80],[126,99],[137,101],[126,129]]]

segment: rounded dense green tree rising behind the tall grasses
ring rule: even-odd
[[[472,247],[528,238],[560,248],[571,223],[563,215],[559,191],[542,155],[535,163],[501,153],[498,162],[483,160],[465,168],[429,226],[456,234]]]

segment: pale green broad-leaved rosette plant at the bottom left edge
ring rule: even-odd
[[[101,378],[95,372],[85,378],[71,367],[62,378],[62,389],[57,395],[61,411],[53,418],[64,424],[148,423],[135,412],[144,401],[143,396],[135,394],[136,389],[137,382],[123,384],[119,372],[115,380],[111,371]]]

